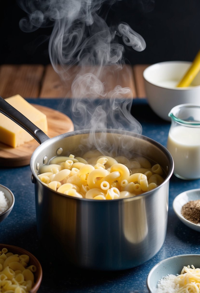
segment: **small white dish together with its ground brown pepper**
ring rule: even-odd
[[[200,232],[200,189],[187,190],[177,195],[173,209],[185,225]]]

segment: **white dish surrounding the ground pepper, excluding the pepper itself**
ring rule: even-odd
[[[173,201],[173,209],[177,217],[189,228],[200,232],[200,226],[185,219],[181,214],[182,206],[191,200],[200,200],[200,189],[191,189],[177,195]]]

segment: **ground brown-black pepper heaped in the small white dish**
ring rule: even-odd
[[[200,200],[191,200],[181,209],[181,213],[188,221],[200,225]]]

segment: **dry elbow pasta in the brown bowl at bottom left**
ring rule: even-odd
[[[35,265],[28,265],[29,256],[0,251],[0,292],[26,293],[34,285]]]

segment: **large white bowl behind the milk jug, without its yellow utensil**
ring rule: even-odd
[[[176,105],[200,105],[200,72],[191,86],[176,87],[190,65],[191,62],[166,61],[150,65],[143,72],[148,103],[164,120],[170,121],[168,114]]]

